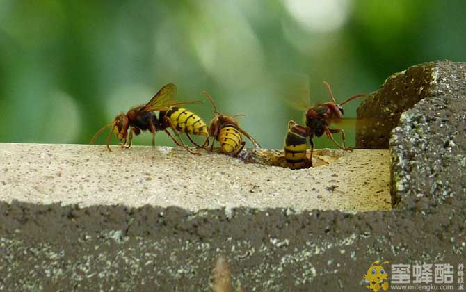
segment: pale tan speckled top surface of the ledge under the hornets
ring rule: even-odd
[[[248,159],[276,155],[260,153],[248,152]],[[388,154],[319,150],[321,167],[289,170],[171,147],[109,152],[102,145],[1,143],[0,192],[4,202],[36,204],[387,210]]]

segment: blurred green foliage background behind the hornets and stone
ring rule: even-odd
[[[299,106],[329,100],[324,80],[342,101],[410,65],[464,61],[465,8],[460,0],[0,0],[0,141],[88,143],[172,82],[178,100],[207,90],[221,113],[246,114],[241,126],[263,147],[280,148],[287,122],[303,121]],[[212,117],[208,103],[188,108]],[[344,129],[353,145],[353,126]],[[134,143],[150,144],[150,134]],[[172,142],[158,133],[156,144]]]

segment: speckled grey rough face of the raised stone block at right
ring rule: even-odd
[[[390,140],[394,203],[431,211],[466,196],[466,63],[417,66],[428,98],[401,115]]]

